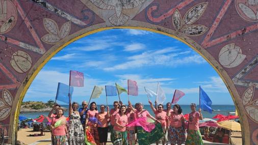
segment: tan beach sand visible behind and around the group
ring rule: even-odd
[[[21,129],[17,133],[17,140],[20,142],[23,142],[24,144],[37,144],[37,145],[48,145],[51,144],[50,138],[51,134],[50,132],[45,132],[44,136],[30,136],[30,134],[35,134],[35,133],[40,133],[40,132],[33,132],[32,128],[27,128],[27,129]],[[231,135],[232,142],[236,145],[242,144],[242,137],[241,137],[241,132],[234,132]],[[109,139],[110,137],[108,137]],[[110,139],[109,139],[110,140]],[[36,142],[36,143],[35,143]],[[204,141],[204,144],[218,144],[218,143],[212,143],[208,141]],[[112,144],[111,142],[108,142],[107,144]]]

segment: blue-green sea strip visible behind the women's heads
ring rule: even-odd
[[[62,107],[68,108],[69,105],[61,105]],[[98,110],[100,105],[97,105]],[[180,105],[182,110],[183,110],[183,114],[188,114],[191,112],[191,108],[190,105]],[[80,107],[82,107],[80,105]],[[113,108],[113,104],[109,105],[110,108]],[[196,108],[198,108],[198,105],[196,106]],[[154,113],[150,108],[150,105],[144,105],[144,108],[149,111],[149,113],[151,115],[153,115],[154,117]],[[166,105],[164,105],[164,109],[166,109]],[[202,115],[203,118],[213,118],[216,114],[220,113],[223,115],[228,115],[229,112],[235,112],[236,111],[236,107],[235,105],[212,105],[212,109],[214,110],[212,113],[209,113],[207,111],[202,111]],[[49,112],[26,112],[26,113],[20,113],[20,116],[26,117],[26,118],[38,118],[39,115],[48,115]],[[68,116],[68,110],[64,112],[64,115],[67,117]]]

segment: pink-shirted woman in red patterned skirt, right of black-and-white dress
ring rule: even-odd
[[[98,131],[97,131],[97,105],[95,102],[90,103],[90,109],[87,111],[86,114],[86,122],[85,126],[90,127],[90,134],[94,137],[95,143],[99,144],[99,137],[98,137]]]

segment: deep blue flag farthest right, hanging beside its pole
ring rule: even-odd
[[[204,111],[208,111],[209,113],[212,113],[212,100],[209,98],[209,96],[201,89],[201,86],[199,87],[200,92],[200,108]]]

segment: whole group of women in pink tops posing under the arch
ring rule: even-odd
[[[156,144],[159,144],[161,139],[163,145],[167,141],[170,144],[178,145],[182,143],[203,144],[198,127],[199,120],[202,120],[202,114],[200,109],[196,111],[196,105],[193,103],[190,105],[192,112],[189,114],[187,125],[182,108],[178,104],[173,105],[171,109],[171,103],[167,103],[167,109],[165,110],[162,104],[157,105],[155,102],[154,107],[149,101],[155,117],[152,117],[147,110],[143,109],[142,103],[136,103],[134,108],[130,101],[128,101],[128,107],[123,105],[122,102],[115,101],[114,108],[109,110],[108,106],[100,105],[99,112],[95,102],[90,104],[89,109],[87,109],[85,101],[82,104],[84,104],[83,108],[78,111],[79,104],[75,102],[71,104],[70,102],[69,123],[67,124],[61,123],[60,125],[59,123],[59,126],[56,125],[57,122],[65,120],[64,111],[60,106],[54,107],[53,110],[56,109],[56,113],[49,113],[49,117],[53,118],[51,122],[53,144],[63,145],[66,143],[67,137],[69,144],[106,145],[108,130],[111,132],[111,141],[115,145],[133,145],[137,141],[140,144],[140,140],[144,141],[146,139],[154,139]],[[85,121],[81,118],[85,118]],[[156,135],[153,137],[149,135],[149,138],[146,138],[142,135],[148,132],[143,131],[141,127],[127,126],[141,118],[150,118],[155,122],[156,127],[150,133],[156,133]],[[156,129],[158,126],[161,126],[162,129]]]

